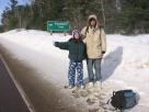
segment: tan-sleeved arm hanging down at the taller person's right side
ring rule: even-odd
[[[102,41],[102,54],[106,52],[106,35],[104,30],[101,30],[101,41]]]

